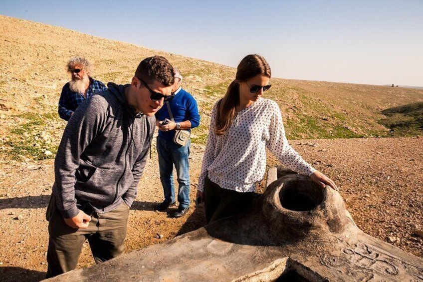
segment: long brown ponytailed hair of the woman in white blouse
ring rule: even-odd
[[[260,55],[245,56],[238,64],[235,80],[227,87],[224,97],[217,102],[216,128],[214,130],[217,135],[224,134],[235,117],[235,106],[239,103],[239,82],[246,81],[258,74],[270,78],[269,64]]]

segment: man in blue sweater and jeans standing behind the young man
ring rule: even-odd
[[[160,180],[165,193],[165,200],[155,207],[157,211],[166,211],[175,203],[175,185],[173,180],[173,166],[175,165],[179,191],[179,207],[176,212],[171,213],[170,217],[182,217],[190,208],[190,174],[189,174],[189,156],[191,141],[185,146],[180,146],[173,142],[175,130],[197,127],[200,124],[200,114],[197,101],[193,95],[182,89],[182,75],[177,68],[175,71],[175,83],[172,92],[175,97],[168,102],[174,117],[171,119],[168,107],[162,107],[156,113],[156,125],[159,127],[157,137],[157,152],[159,155]]]

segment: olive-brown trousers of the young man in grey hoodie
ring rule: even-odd
[[[48,224],[46,277],[75,269],[85,239],[88,239],[97,264],[121,255],[124,252],[128,215],[129,207],[122,202],[113,211],[94,213],[87,229],[73,229],[55,208]]]

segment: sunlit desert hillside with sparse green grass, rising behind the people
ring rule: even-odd
[[[39,159],[42,150],[54,155],[65,125],[57,116],[57,101],[69,79],[65,63],[72,56],[86,56],[94,64],[93,76],[105,83],[128,83],[143,58],[167,57],[181,69],[184,87],[199,102],[203,122],[193,139],[202,144],[211,107],[235,73],[234,68],[208,61],[6,16],[0,16],[0,27],[4,157]],[[290,139],[386,136],[389,130],[379,123],[385,118],[382,110],[423,101],[422,89],[281,78],[271,83],[266,96],[279,103]]]

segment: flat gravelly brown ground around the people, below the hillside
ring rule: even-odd
[[[292,145],[335,180],[361,230],[423,257],[423,138],[295,140]],[[193,145],[192,200],[203,152],[203,146]],[[276,164],[271,156],[269,164]],[[44,212],[52,181],[52,160],[1,161],[0,281],[43,279],[48,242]],[[127,252],[160,244],[204,225],[203,209],[196,209],[194,204],[188,215],[179,219],[154,211],[162,193],[157,154],[153,150],[131,209]],[[92,265],[89,247],[85,245],[78,268]]]

